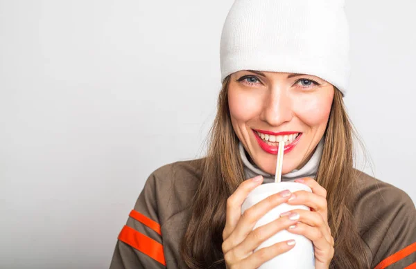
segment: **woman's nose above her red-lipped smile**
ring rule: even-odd
[[[275,127],[291,121],[293,118],[292,100],[285,91],[272,89],[265,99],[260,115],[261,120]]]

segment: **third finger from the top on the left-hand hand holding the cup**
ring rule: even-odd
[[[247,257],[248,254],[251,254],[261,243],[266,241],[266,239],[269,239],[270,236],[289,228],[294,223],[297,223],[297,218],[290,219],[289,216],[284,216],[275,221],[271,221],[266,225],[262,225],[259,228],[252,230],[252,232],[250,232],[232,251],[236,257]]]

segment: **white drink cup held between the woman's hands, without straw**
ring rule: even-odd
[[[311,188],[296,182],[280,182],[280,183],[264,183],[259,185],[255,189],[248,194],[247,198],[241,205],[241,214],[248,210],[248,208],[252,207],[252,205],[259,203],[264,198],[276,194],[277,192],[281,192],[285,189],[290,190],[291,192],[296,192],[298,190],[305,190],[307,192],[312,192]],[[283,212],[287,212],[290,210],[295,209],[303,209],[303,210],[311,210],[306,205],[288,205],[287,203],[282,203],[277,207],[273,208],[269,212],[267,212],[259,221],[257,221],[256,225],[254,225],[254,229],[270,223],[271,221],[275,221],[279,219],[280,214]],[[276,269],[276,268],[284,268],[284,269],[314,269],[315,268],[315,256],[313,254],[313,244],[312,241],[307,239],[305,236],[300,234],[293,234],[288,232],[287,230],[281,230],[277,232],[277,234],[270,236],[269,239],[263,241],[257,250],[261,248],[266,248],[270,245],[274,245],[275,243],[291,240],[294,239],[296,241],[295,246],[284,252],[282,254],[277,255],[276,257],[266,261],[261,265],[258,269]]]

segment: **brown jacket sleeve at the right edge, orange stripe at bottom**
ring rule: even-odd
[[[363,197],[363,239],[372,253],[371,268],[416,268],[416,210],[406,192],[387,183]],[[370,220],[370,221],[369,221]]]

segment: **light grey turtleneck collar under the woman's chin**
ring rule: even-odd
[[[239,142],[239,149],[240,149],[240,156],[241,160],[243,160],[244,164],[244,174],[245,179],[252,178],[254,176],[261,175],[263,176],[263,184],[264,183],[272,183],[275,182],[275,176],[266,173],[265,171],[261,170],[257,165],[250,163],[247,156],[245,155],[245,149],[241,142]],[[320,159],[322,157],[322,151],[324,149],[324,138],[320,140],[318,146],[315,149],[311,159],[309,159],[308,163],[304,165],[301,169],[294,169],[293,171],[289,172],[288,174],[284,174],[281,176],[281,181],[293,181],[297,178],[304,178],[304,177],[316,177],[316,172],[318,171]]]

